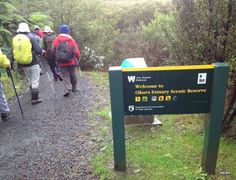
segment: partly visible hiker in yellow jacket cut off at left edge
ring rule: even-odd
[[[10,68],[10,61],[7,58],[6,55],[4,55],[0,49],[0,68]],[[1,76],[1,72],[0,72]],[[0,113],[1,113],[1,118],[3,121],[5,121],[9,115],[10,109],[7,103],[7,99],[5,97],[5,94],[3,92],[3,86],[2,86],[2,81],[0,79]]]

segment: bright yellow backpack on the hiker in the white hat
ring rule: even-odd
[[[33,59],[32,44],[24,34],[16,35],[12,40],[13,56],[19,64],[30,64]]]

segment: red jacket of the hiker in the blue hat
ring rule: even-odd
[[[68,34],[59,34],[56,39],[53,41],[53,51],[54,55],[56,53],[56,48],[59,44],[59,42],[68,42],[69,48],[73,51],[74,56],[79,59],[80,58],[80,51],[77,43],[75,40]],[[72,58],[70,62],[67,63],[60,63],[60,67],[67,67],[67,66],[75,66],[77,65],[77,60],[75,58]]]

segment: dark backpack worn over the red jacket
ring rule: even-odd
[[[69,47],[68,41],[59,41],[55,55],[56,61],[58,61],[59,63],[68,63],[74,57],[74,54]]]

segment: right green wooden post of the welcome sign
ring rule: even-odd
[[[220,143],[221,127],[224,118],[224,102],[229,66],[215,64],[212,82],[210,113],[205,125],[205,140],[202,167],[208,174],[215,174]]]

